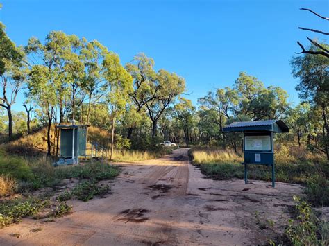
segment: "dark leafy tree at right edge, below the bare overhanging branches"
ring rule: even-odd
[[[327,44],[321,44],[329,49]],[[317,46],[310,46],[311,51],[317,51]],[[329,159],[329,58],[323,55],[305,53],[292,59],[292,74],[298,78],[296,90],[302,100],[306,100],[313,107],[319,108],[322,117],[321,148]]]

